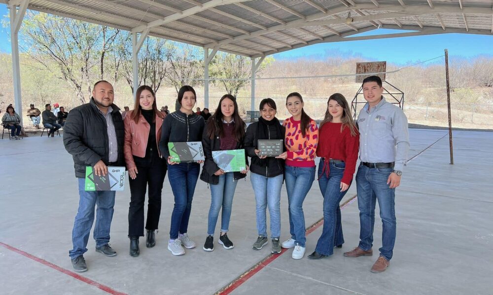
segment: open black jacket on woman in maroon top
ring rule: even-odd
[[[202,147],[204,148],[204,155],[206,156],[206,160],[204,161],[204,166],[202,167],[202,173],[200,175],[200,179],[204,180],[210,184],[219,183],[219,177],[214,175],[217,170],[220,168],[214,163],[212,159],[212,151],[213,150],[221,150],[221,139],[218,135],[215,135],[212,139],[207,136],[207,128],[204,128],[204,135],[202,136]],[[244,148],[243,142],[237,143],[235,149]],[[245,162],[248,166],[248,157],[245,153]],[[245,178],[246,174],[241,172],[234,172],[235,179]]]

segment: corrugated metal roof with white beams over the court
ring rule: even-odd
[[[251,58],[322,42],[493,34],[493,0],[30,0],[27,8]],[[377,28],[415,32],[350,37]]]

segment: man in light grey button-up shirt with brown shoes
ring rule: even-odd
[[[359,112],[359,159],[356,189],[359,208],[359,245],[344,253],[346,257],[372,256],[375,205],[382,218],[382,247],[371,271],[385,271],[395,243],[395,188],[399,186],[407,162],[409,133],[406,115],[382,96],[382,80],[371,76],[363,80],[367,103]]]

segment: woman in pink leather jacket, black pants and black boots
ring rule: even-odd
[[[147,248],[156,244],[154,232],[158,229],[161,214],[161,190],[166,176],[166,160],[161,158],[158,144],[164,115],[156,107],[154,91],[148,86],[137,89],[134,110],[125,116],[125,144],[123,151],[130,184],[128,211],[128,237],[130,256],[140,254],[139,237],[144,236],[145,191],[149,187],[147,207]]]

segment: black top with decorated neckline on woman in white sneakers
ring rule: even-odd
[[[159,150],[163,158],[168,159],[170,156],[168,143],[202,141],[204,125],[204,118],[195,113],[187,116],[178,110],[166,116],[159,140]]]

